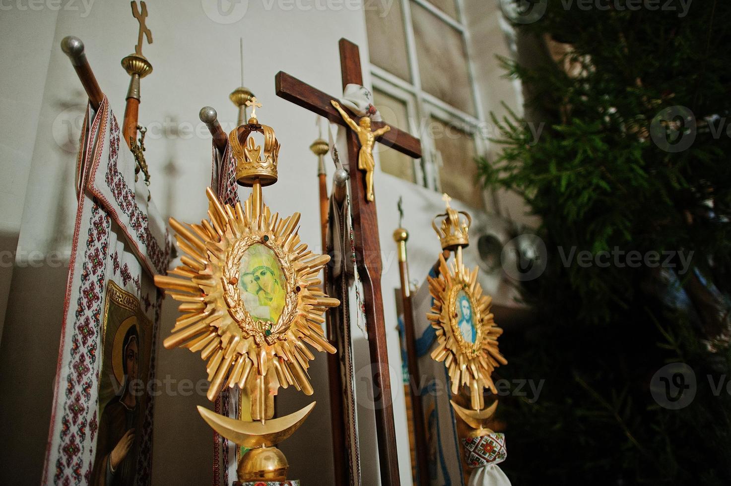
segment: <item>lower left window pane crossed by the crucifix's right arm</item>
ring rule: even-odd
[[[377,89],[373,91],[373,101],[381,113],[383,121],[406,131],[409,130],[409,113],[406,111],[406,103]],[[376,143],[373,151],[378,153],[383,172],[414,182],[414,160],[411,157],[382,143]]]

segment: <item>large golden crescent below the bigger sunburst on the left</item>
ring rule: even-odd
[[[235,444],[249,448],[270,447],[291,436],[314,409],[315,403],[317,402],[310,403],[303,409],[295,411],[294,414],[279,417],[278,419],[269,419],[263,424],[258,420],[256,422],[246,422],[245,420],[224,417],[200,405],[198,406],[198,413],[213,430],[216,430],[221,436]]]

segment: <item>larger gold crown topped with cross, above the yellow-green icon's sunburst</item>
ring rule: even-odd
[[[229,134],[231,156],[236,162],[236,181],[246,187],[254,186],[254,183],[270,186],[277,181],[277,159],[281,145],[276,140],[274,129],[257,120],[257,107],[262,107],[262,104],[257,102],[256,96],[246,101],[246,105],[252,107],[251,118]],[[264,136],[262,145],[257,145],[252,137],[254,133]]]

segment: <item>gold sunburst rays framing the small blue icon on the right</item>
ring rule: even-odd
[[[439,277],[428,277],[429,291],[434,297],[434,305],[427,319],[436,329],[436,348],[431,357],[444,361],[450,375],[452,395],[457,395],[460,387],[469,388],[471,407],[481,410],[485,406],[482,389],[489,388],[497,393],[491,378],[493,370],[506,365],[507,360],[498,349],[498,337],[502,329],[495,325],[490,312],[492,297],[482,295],[482,286],[477,282],[477,267],[471,272],[462,263],[462,247],[457,248],[455,261],[447,262],[439,256]],[[469,297],[476,330],[474,343],[466,341],[458,327],[458,311],[455,299],[463,291]]]

